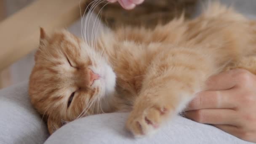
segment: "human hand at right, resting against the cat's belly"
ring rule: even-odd
[[[256,142],[256,75],[244,69],[222,72],[208,79],[189,104],[186,117],[207,123],[246,141]]]

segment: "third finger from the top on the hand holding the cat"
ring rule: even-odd
[[[200,109],[185,112],[185,116],[198,123],[237,125],[238,117],[232,109]]]

